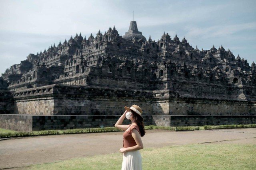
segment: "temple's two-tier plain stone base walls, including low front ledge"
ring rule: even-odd
[[[2,117],[1,127],[22,131],[111,127],[124,112],[124,106],[133,104],[147,115],[146,125],[256,123],[255,102],[180,98],[170,90],[152,92],[53,84],[14,93],[14,113],[18,115]]]

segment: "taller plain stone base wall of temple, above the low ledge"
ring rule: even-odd
[[[137,104],[147,115],[255,115],[256,102],[177,97],[170,90],[124,90],[48,85],[14,94],[14,113],[118,115]]]

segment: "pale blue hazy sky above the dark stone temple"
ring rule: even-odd
[[[76,33],[115,26],[124,35],[133,18],[146,39],[177,34],[194,48],[222,45],[256,62],[256,0],[0,0],[0,75]]]

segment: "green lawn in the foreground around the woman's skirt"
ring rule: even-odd
[[[197,144],[140,151],[144,170],[252,170],[256,169],[256,145]],[[26,170],[120,170],[122,154],[36,164]]]

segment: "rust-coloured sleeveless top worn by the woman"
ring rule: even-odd
[[[123,137],[124,137],[123,146],[124,146],[124,148],[133,147],[133,146],[137,145],[134,138],[132,137],[132,129],[134,129],[134,128],[140,133],[138,125],[136,125],[136,124],[129,125],[129,128],[126,131],[124,131],[124,134],[123,134]]]

